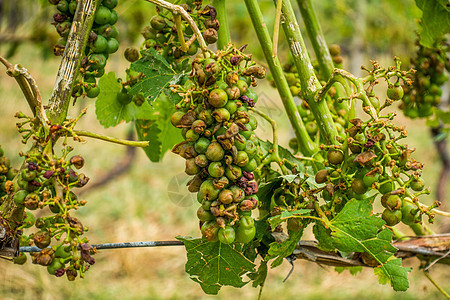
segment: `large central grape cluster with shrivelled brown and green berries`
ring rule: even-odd
[[[248,114],[257,96],[251,86],[266,71],[232,48],[199,54],[190,79],[173,91],[182,96],[171,122],[185,141],[173,152],[186,159],[189,191],[201,204],[197,216],[209,241],[247,243],[255,236],[251,212],[258,207],[256,119]]]

